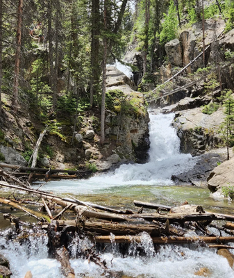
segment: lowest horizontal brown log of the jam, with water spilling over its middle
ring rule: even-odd
[[[141,243],[141,236],[95,236],[94,240],[97,243]],[[160,236],[152,238],[153,243],[156,244],[186,244],[186,243],[233,243],[234,236]]]

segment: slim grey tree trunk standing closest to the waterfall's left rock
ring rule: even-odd
[[[104,31],[107,31],[107,0],[104,1]],[[102,72],[102,93],[101,93],[101,139],[100,145],[105,141],[105,104],[106,104],[106,60],[107,60],[107,38],[103,35],[103,72]]]

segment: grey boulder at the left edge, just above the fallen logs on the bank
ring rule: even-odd
[[[26,166],[27,161],[24,159],[24,157],[19,154],[15,149],[12,149],[12,147],[4,147],[0,146],[0,152],[5,156],[5,163],[7,164],[13,164],[13,165],[19,165],[19,166]]]

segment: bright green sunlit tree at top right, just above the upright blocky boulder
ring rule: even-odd
[[[162,31],[160,32],[160,43],[165,44],[176,38],[178,31],[178,18],[176,15],[176,7],[174,1],[170,1],[170,6],[167,15],[164,14],[165,21],[162,23]]]

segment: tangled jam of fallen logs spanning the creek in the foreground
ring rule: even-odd
[[[24,206],[23,199],[16,201],[15,199],[0,198],[0,202],[18,208],[28,215],[40,220],[43,229],[47,229],[49,238],[49,250],[51,256],[56,257],[62,263],[62,271],[65,277],[74,277],[74,270],[69,264],[69,252],[67,251],[67,243],[65,242],[67,233],[78,233],[89,236],[94,245],[99,243],[126,243],[133,241],[140,243],[142,232],[148,233],[154,244],[165,243],[201,243],[203,246],[215,247],[218,250],[233,248],[226,243],[234,242],[234,216],[224,215],[220,213],[208,213],[203,211],[201,206],[184,204],[182,206],[171,207],[160,204],[150,204],[145,202],[134,201],[135,206],[139,207],[137,212],[120,211],[114,208],[107,208],[90,202],[82,202],[74,198],[62,198],[39,190],[21,188],[0,181],[0,186],[6,186],[13,190],[25,190],[32,195],[37,195],[42,200],[41,206],[48,215],[31,211]],[[47,202],[46,202],[47,200]],[[29,202],[27,200],[27,202]],[[51,213],[51,203],[62,206],[63,209],[55,215]],[[156,213],[143,213],[143,209],[156,210]],[[76,219],[62,220],[67,210],[74,211]],[[14,222],[16,229],[20,229],[19,220],[12,215],[4,215],[6,219]],[[213,220],[224,220],[219,226],[212,222]],[[217,222],[217,221],[215,221]],[[224,224],[225,223],[225,224]],[[220,236],[212,234],[215,227],[219,231]],[[58,236],[60,231],[60,236]],[[193,231],[197,236],[187,236],[188,232]],[[221,236],[222,231],[225,235]],[[115,235],[114,237],[110,234]],[[86,253],[85,253],[86,252]],[[101,265],[106,270],[106,266],[101,262],[93,250],[87,250],[84,256],[89,260]],[[233,256],[228,253],[228,256]],[[233,256],[234,257],[234,256]],[[233,258],[234,262],[234,258]]]

